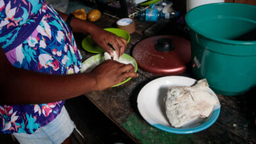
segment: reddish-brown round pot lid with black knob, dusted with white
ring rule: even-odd
[[[158,35],[140,41],[133,49],[139,67],[157,75],[186,71],[191,60],[190,41],[173,35]]]

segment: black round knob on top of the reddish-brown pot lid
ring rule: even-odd
[[[169,38],[158,39],[155,48],[160,52],[169,52],[175,48],[172,42]]]

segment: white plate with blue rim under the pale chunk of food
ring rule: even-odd
[[[173,128],[169,124],[169,120],[165,114],[163,98],[165,98],[167,90],[169,90],[171,86],[191,86],[195,82],[195,79],[179,76],[161,77],[149,82],[140,90],[137,99],[140,115],[152,126],[164,130],[165,132],[175,134],[190,134],[208,128],[219,117],[220,107],[215,109],[208,118],[205,118],[205,120],[199,124],[195,124],[189,128]],[[215,95],[211,88],[209,88],[209,92]],[[217,98],[216,95],[215,97]]]

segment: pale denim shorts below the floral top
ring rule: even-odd
[[[14,133],[14,137],[21,144],[58,144],[68,138],[75,128],[65,107],[49,124],[37,129],[33,134]]]

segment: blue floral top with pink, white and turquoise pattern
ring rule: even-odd
[[[0,0],[0,45],[14,67],[54,75],[81,69],[70,28],[43,0]],[[63,105],[0,105],[0,132],[33,134],[54,120]]]

